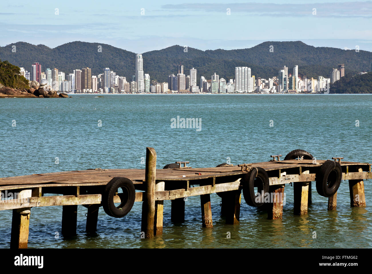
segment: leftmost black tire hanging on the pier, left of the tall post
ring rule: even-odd
[[[122,200],[120,205],[115,207],[113,197],[119,188],[123,190]],[[135,196],[136,191],[131,180],[125,177],[115,177],[108,182],[105,192],[103,193],[103,210],[105,210],[106,214],[111,217],[124,217],[129,211],[131,211],[134,205]]]

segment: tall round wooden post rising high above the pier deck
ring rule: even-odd
[[[146,192],[143,195],[141,223],[141,232],[144,232],[145,238],[154,237],[155,178],[156,152],[154,148],[147,147],[145,171]]]

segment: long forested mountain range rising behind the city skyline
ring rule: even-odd
[[[12,52],[12,45],[16,52]],[[98,52],[98,46],[102,52]],[[273,52],[270,52],[270,45]],[[125,48],[125,45],[123,45]],[[143,53],[144,73],[156,81],[167,81],[171,73],[177,73],[177,64],[184,65],[185,74],[195,67],[198,79],[201,75],[210,79],[216,72],[220,77],[230,79],[234,77],[235,66],[248,66],[252,75],[261,78],[277,76],[284,65],[292,72],[294,65],[299,66],[299,75],[308,78],[323,75],[329,77],[332,68],[338,64],[345,64],[347,74],[367,70],[371,52],[360,50],[341,50],[330,47],[313,47],[301,41],[295,42],[264,42],[252,48],[239,50],[198,50],[174,45],[162,50]],[[92,68],[92,75],[103,72],[105,67],[115,71],[117,75],[128,79],[135,74],[135,53],[112,47],[102,43],[70,42],[55,48],[45,45],[32,45],[26,42],[0,47],[0,59],[8,60],[26,70],[31,70],[33,62],[41,63],[42,70],[47,67],[57,67],[65,73],[72,73],[74,69]],[[199,84],[199,81],[198,81]]]

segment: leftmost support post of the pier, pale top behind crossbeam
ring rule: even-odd
[[[31,189],[21,190],[18,199],[23,199],[26,204],[28,202],[27,199],[31,197],[31,193]],[[30,207],[13,210],[10,248],[27,248],[30,213]]]

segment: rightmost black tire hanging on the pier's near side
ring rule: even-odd
[[[340,187],[341,179],[341,165],[335,161],[325,161],[315,176],[317,192],[323,197],[333,196]]]

